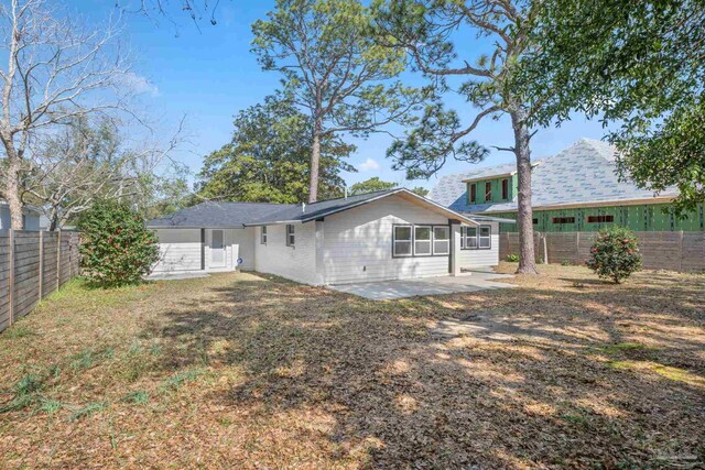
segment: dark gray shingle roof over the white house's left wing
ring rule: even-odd
[[[241,228],[245,227],[245,223],[288,207],[300,206],[292,204],[207,201],[151,220],[148,227]]]

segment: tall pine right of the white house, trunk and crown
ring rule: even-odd
[[[412,70],[429,77],[436,91],[416,128],[388,150],[394,167],[406,170],[409,178],[417,178],[431,176],[447,159],[479,162],[488,150],[467,138],[484,119],[508,116],[514,143],[495,149],[510,151],[517,159],[521,254],[517,272],[535,274],[530,152],[533,133],[529,120],[533,106],[510,87],[514,64],[532,47],[529,33],[535,2],[376,0],[373,8],[378,41],[408,52]],[[470,56],[463,57],[456,40],[471,36],[484,37],[488,46],[470,47]],[[485,48],[487,54],[477,52]],[[455,80],[464,81],[457,86]],[[459,94],[478,110],[469,123],[463,124],[457,112],[444,108],[442,98],[446,92]]]

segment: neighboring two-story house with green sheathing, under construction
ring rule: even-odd
[[[634,231],[704,231],[703,205],[679,220],[663,209],[677,196],[654,196],[616,173],[615,149],[581,139],[558,154],[533,163],[534,229],[540,232],[596,231],[618,225]],[[517,218],[518,175],[513,163],[443,176],[429,196],[454,211]],[[500,232],[516,232],[500,223]]]

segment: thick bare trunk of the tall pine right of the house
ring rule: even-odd
[[[522,110],[513,111],[511,125],[514,130],[514,154],[519,195],[517,201],[517,223],[519,225],[519,267],[517,274],[539,274],[533,247],[533,209],[531,207],[531,135]]]

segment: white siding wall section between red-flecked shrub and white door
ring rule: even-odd
[[[155,272],[200,270],[200,229],[160,229]]]

